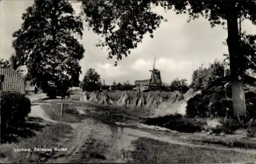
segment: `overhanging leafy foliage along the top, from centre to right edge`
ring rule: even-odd
[[[104,38],[99,46],[108,47],[109,57],[116,57],[117,61],[137,48],[145,34],[153,37],[153,32],[165,20],[152,12],[154,6],[176,14],[187,13],[188,22],[203,16],[211,27],[225,26],[229,10],[235,8],[234,15],[241,14],[242,21],[249,19],[256,24],[255,1],[82,1],[88,26]]]

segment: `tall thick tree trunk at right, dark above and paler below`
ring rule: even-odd
[[[228,29],[228,51],[230,58],[230,75],[232,79],[232,102],[233,102],[233,115],[244,116],[246,115],[245,106],[245,93],[243,79],[240,70],[240,39],[238,30],[238,12],[236,11],[236,5],[234,4],[228,12],[227,17],[227,29]]]

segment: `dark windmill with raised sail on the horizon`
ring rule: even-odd
[[[158,69],[155,69],[155,62],[156,62],[156,57],[154,59],[153,69],[150,70],[150,72],[152,72],[151,78],[150,78],[150,88],[158,89],[162,85],[162,79],[161,79],[160,71]]]

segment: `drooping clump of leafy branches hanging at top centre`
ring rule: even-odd
[[[104,38],[98,46],[107,46],[116,64],[137,48],[144,34],[153,37],[163,20],[148,1],[82,1],[82,7],[88,26]]]

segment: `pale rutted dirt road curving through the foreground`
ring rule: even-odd
[[[51,120],[49,116],[40,107],[40,104],[32,106],[30,113],[31,116],[38,116],[44,120]],[[156,131],[167,131],[164,128],[156,128],[146,125],[124,125],[116,124],[109,125],[104,124],[101,121],[93,118],[84,119],[80,123],[70,123],[74,128],[74,132],[70,139],[63,141],[62,145],[68,148],[68,151],[59,151],[52,156],[47,162],[49,163],[74,163],[74,162],[110,162],[110,163],[122,163],[122,162],[134,162],[131,152],[135,150],[133,142],[140,137],[152,138],[159,140],[159,142],[165,142],[170,144],[185,145],[193,148],[206,148],[206,145],[195,145],[188,142],[184,142],[186,136],[182,136],[184,140],[181,140],[180,136],[167,135],[163,133],[156,133]],[[137,128],[135,128],[137,126]],[[143,127],[144,126],[144,127]],[[155,132],[148,132],[141,128],[153,129]],[[196,135],[190,134],[189,137]],[[255,150],[244,150],[238,148],[225,148],[213,146],[216,150],[228,150],[239,153],[254,154]],[[255,158],[256,159],[256,158]]]

